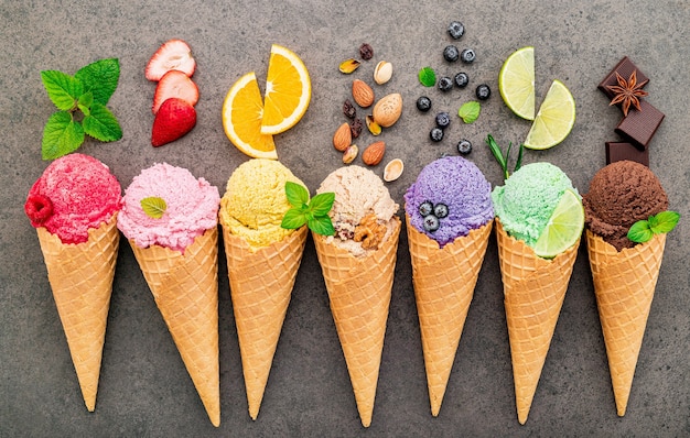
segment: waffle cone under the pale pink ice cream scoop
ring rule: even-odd
[[[208,418],[220,424],[218,364],[218,229],[184,250],[130,245]]]

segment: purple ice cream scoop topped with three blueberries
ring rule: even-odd
[[[443,248],[494,219],[492,185],[472,162],[446,156],[428,164],[405,194],[417,230]]]

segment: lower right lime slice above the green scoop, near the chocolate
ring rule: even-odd
[[[565,140],[574,124],[575,99],[563,83],[553,80],[527,133],[525,147],[542,150],[556,146]]]

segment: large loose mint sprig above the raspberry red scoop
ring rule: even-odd
[[[117,58],[100,59],[74,76],[57,70],[41,72],[41,80],[57,108],[43,129],[43,160],[55,160],[79,149],[85,135],[103,142],[122,138],[120,124],[106,105],[120,76]]]

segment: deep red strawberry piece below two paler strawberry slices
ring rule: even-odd
[[[186,100],[171,97],[155,113],[151,144],[162,146],[173,142],[194,128],[196,110]]]

